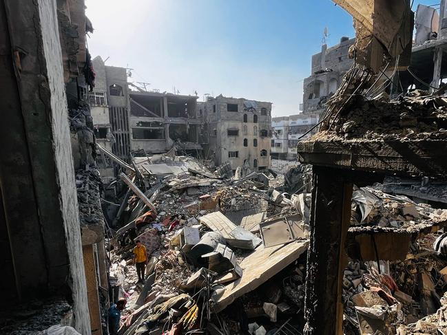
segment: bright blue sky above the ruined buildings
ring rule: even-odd
[[[415,6],[419,1],[415,1]],[[426,3],[425,1],[422,1]],[[428,2],[428,4],[436,1]],[[273,102],[273,116],[298,114],[311,56],[354,36],[330,0],[86,0],[92,56],[131,67],[130,80],[180,94]]]

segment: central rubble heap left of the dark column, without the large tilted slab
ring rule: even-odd
[[[231,329],[248,331],[248,321],[241,323],[240,316],[225,317],[232,307],[219,307],[220,313],[214,309],[225,285],[231,286],[244,276],[241,266],[256,254],[264,255],[267,247],[262,244],[259,224],[281,220],[281,213],[302,217],[291,195],[276,191],[283,187],[284,177],[250,171],[221,177],[198,160],[171,154],[138,158],[135,163],[138,171],[129,180],[134,180],[136,188],[146,190],[146,198],[135,194],[127,199],[122,227],[110,241],[114,300],[127,299],[122,333],[139,334],[157,327],[183,333],[187,329],[205,332],[213,328],[221,332],[227,329],[223,334]],[[288,224],[300,224],[299,220],[291,222]],[[296,232],[290,239],[288,229],[284,226],[286,243],[305,241],[304,235]],[[132,261],[136,240],[149,256],[143,283],[138,282]],[[291,250],[298,246],[302,244]],[[289,266],[296,259],[287,260],[280,274],[262,279],[273,276],[269,285],[253,286],[233,303],[242,304],[240,314],[244,318],[260,322],[258,327],[252,325],[256,328],[253,334],[279,329],[287,316],[302,311],[305,259],[304,254],[300,263]],[[163,305],[169,301],[169,306]],[[289,322],[288,327],[293,324]]]

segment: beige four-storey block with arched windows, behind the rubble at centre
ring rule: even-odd
[[[271,102],[216,96],[198,105],[208,138],[205,158],[216,165],[230,162],[231,169],[270,166]]]

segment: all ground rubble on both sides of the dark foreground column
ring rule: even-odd
[[[130,175],[131,186],[146,190],[145,196],[128,198],[122,227],[109,244],[114,300],[127,298],[121,334],[301,332],[311,167],[229,177],[174,156],[145,158],[136,167],[143,177]],[[416,231],[446,220],[444,210],[379,187],[353,193],[351,229]],[[349,260],[342,281],[346,335],[373,324],[395,334],[439,307],[447,263],[433,247],[437,238],[413,241],[402,261]],[[132,261],[136,240],[149,256],[143,283]]]

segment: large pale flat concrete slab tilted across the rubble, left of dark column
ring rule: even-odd
[[[251,292],[265,283],[275,274],[307,250],[309,241],[294,241],[285,246],[265,248],[259,246],[256,251],[240,262],[242,277],[225,285],[225,292],[214,306],[215,312],[220,312],[240,296]]]

